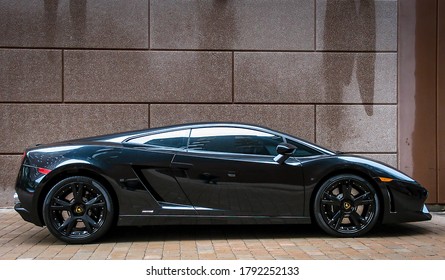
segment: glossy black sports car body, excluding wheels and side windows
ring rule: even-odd
[[[291,156],[284,164],[272,155],[202,152],[131,143],[156,133],[202,127],[237,127],[274,133],[317,151]],[[43,174],[39,168],[50,171]],[[431,219],[427,191],[383,163],[334,153],[264,127],[202,123],[118,133],[40,145],[26,150],[16,183],[15,209],[44,225],[45,195],[72,174],[92,176],[109,188],[118,225],[199,223],[309,223],[315,192],[335,174],[364,177],[382,201],[381,222]],[[379,178],[390,178],[382,182]]]

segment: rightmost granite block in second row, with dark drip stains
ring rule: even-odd
[[[235,102],[396,103],[397,54],[235,53]]]

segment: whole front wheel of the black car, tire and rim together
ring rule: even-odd
[[[380,214],[379,198],[365,179],[337,175],[318,190],[314,200],[314,217],[318,226],[337,237],[358,237],[369,232]]]

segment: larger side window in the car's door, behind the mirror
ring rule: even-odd
[[[209,127],[192,129],[190,150],[276,155],[281,136],[237,127]]]

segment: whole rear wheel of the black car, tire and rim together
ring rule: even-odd
[[[113,223],[113,203],[106,188],[83,176],[63,179],[46,195],[43,220],[58,239],[90,243],[102,237]]]

